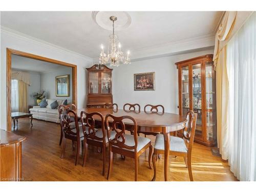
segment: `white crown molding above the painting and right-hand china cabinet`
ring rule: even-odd
[[[166,44],[132,50],[131,61],[178,55],[182,53],[195,52],[195,50],[209,50],[212,49],[214,45],[215,35],[212,33],[204,36],[182,39],[167,42]],[[99,62],[99,57],[93,58],[93,62]]]

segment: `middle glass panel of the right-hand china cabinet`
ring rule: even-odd
[[[202,137],[202,79],[201,63],[192,65],[193,111],[197,113],[196,136]]]

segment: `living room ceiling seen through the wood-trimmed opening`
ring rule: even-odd
[[[66,66],[56,65],[54,63],[40,61],[36,59],[30,59],[18,55],[12,55],[12,69],[20,71],[29,71],[36,73],[46,73],[55,71],[60,68],[69,68]]]

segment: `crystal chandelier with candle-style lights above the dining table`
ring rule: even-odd
[[[116,16],[111,16],[110,20],[113,22],[113,33],[109,36],[109,47],[108,54],[104,53],[104,47],[101,44],[101,53],[99,56],[100,65],[104,65],[110,62],[110,66],[118,67],[121,63],[130,64],[131,59],[129,58],[130,51],[127,51],[127,57],[124,57],[121,51],[121,44],[119,42],[118,36],[115,34],[114,22],[117,20]]]

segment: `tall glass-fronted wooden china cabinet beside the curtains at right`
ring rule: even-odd
[[[198,114],[195,142],[214,146],[217,138],[216,75],[213,55],[175,63],[179,73],[179,114],[188,110]],[[182,136],[182,131],[177,133]]]

